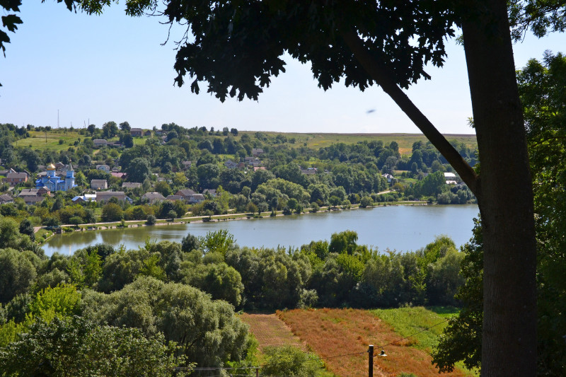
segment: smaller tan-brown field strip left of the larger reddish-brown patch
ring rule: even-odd
[[[270,346],[294,346],[306,350],[306,345],[274,314],[242,314],[250,332],[260,343],[260,349]]]

